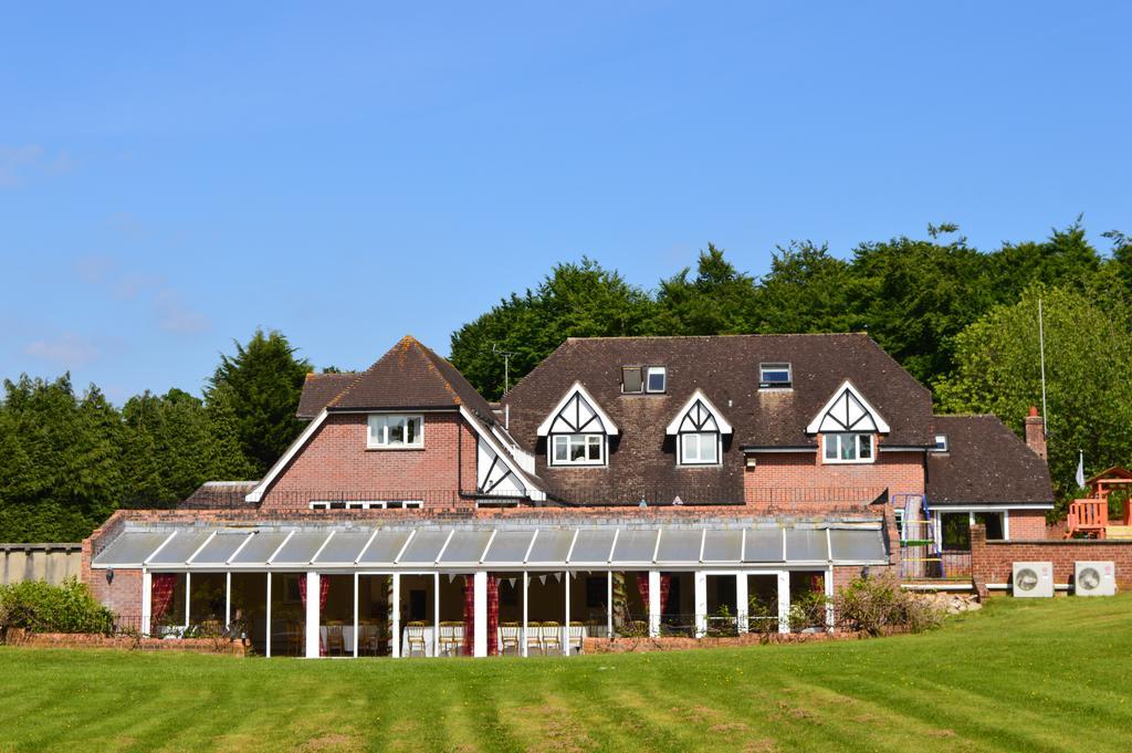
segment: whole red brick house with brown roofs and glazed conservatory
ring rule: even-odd
[[[970,524],[1029,537],[1053,504],[1040,430],[934,416],[859,334],[572,339],[498,404],[404,337],[309,375],[299,416],[263,479],[115,513],[95,593],[268,656],[568,654],[823,630],[811,593],[961,573]]]

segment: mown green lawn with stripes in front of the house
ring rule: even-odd
[[[0,648],[0,751],[1130,751],[1132,594],[928,635],[571,659]]]

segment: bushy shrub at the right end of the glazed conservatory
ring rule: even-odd
[[[854,579],[838,591],[833,609],[842,627],[869,635],[893,628],[921,633],[943,622],[935,602],[904,591],[891,575]]]

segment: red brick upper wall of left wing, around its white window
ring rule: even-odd
[[[305,508],[319,493],[361,499],[387,491],[430,507],[473,504],[456,494],[461,484],[464,491],[475,490],[475,435],[458,413],[424,413],[421,450],[367,450],[367,420],[365,413],[328,416],[272,485],[261,508]]]

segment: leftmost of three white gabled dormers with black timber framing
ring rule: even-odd
[[[604,465],[609,436],[615,434],[617,427],[581,383],[539,426],[539,436],[547,437],[550,465]]]

